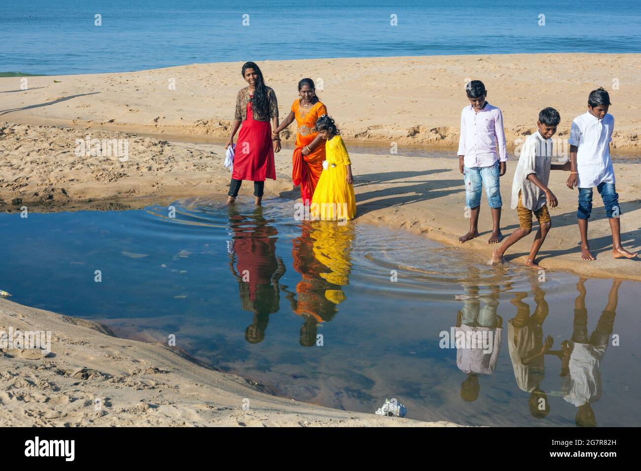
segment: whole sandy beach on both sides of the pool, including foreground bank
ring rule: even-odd
[[[240,62],[194,64],[118,74],[36,76],[21,90],[20,78],[0,78],[0,210],[126,210],[179,197],[224,195],[229,172],[222,165],[239,88]],[[351,153],[358,222],[385,224],[427,236],[489,260],[490,213],[481,202],[481,236],[458,244],[469,221],[458,160],[404,155],[409,145],[451,149],[458,144],[460,110],[469,78],[483,79],[488,101],[504,113],[508,148],[535,130],[538,111],[554,106],[562,116],[558,138],[585,112],[590,90],[612,96],[613,149],[640,154],[640,54],[505,54],[293,60],[260,63],[279,99],[283,119],[305,76],[322,79],[319,96],[350,142],[397,143],[397,154]],[[617,79],[617,89],[612,89]],[[175,84],[175,89],[170,89]],[[292,128],[293,129],[293,128]],[[294,135],[283,133],[293,142]],[[128,142],[128,158],[76,153],[78,140]],[[152,136],[149,136],[152,135]],[[179,136],[191,142],[174,142]],[[517,158],[510,152],[501,179],[508,235],[518,227],[510,210]],[[269,197],[299,197],[292,188],[291,151],[276,154]],[[622,244],[641,249],[638,164],[615,163],[622,209]],[[553,172],[549,187],[559,200],[553,228],[540,252],[546,270],[588,277],[641,280],[638,260],[613,260],[603,203],[594,199],[590,238],[595,261],[583,261],[576,221],[576,190],[567,173]],[[248,195],[247,187],[241,194]],[[508,252],[523,263],[533,235]],[[497,267],[501,270],[501,267]],[[548,276],[553,276],[548,275]],[[0,286],[0,288],[3,288]],[[45,330],[53,354],[3,351],[0,360],[0,425],[238,425],[382,426],[447,425],[350,413],[281,399],[244,379],[210,370],[164,345],[110,336],[97,324],[0,300],[0,329]],[[38,353],[39,354],[39,353]],[[37,357],[37,358],[36,358]],[[105,400],[99,411],[87,404]],[[250,411],[242,410],[249,398]],[[372,411],[373,412],[373,411]]]

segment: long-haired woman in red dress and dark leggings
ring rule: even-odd
[[[246,62],[241,73],[249,86],[238,92],[234,124],[229,141],[225,145],[225,149],[233,145],[236,131],[242,123],[235,149],[227,204],[235,201],[242,181],[250,180],[254,182],[256,205],[260,206],[265,179],[276,179],[274,152],[280,151],[281,145],[280,138],[272,133],[272,129],[278,128],[278,101],[274,90],[265,85],[263,73],[258,65]]]

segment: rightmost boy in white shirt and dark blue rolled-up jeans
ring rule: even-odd
[[[592,188],[603,199],[612,231],[612,256],[635,258],[621,246],[619,194],[615,189],[614,169],[610,158],[610,142],[614,131],[614,118],[608,114],[610,95],[603,87],[592,90],[588,97],[587,113],[572,121],[570,130],[570,161],[572,170],[567,179],[568,188],[579,188],[579,231],[581,232],[581,258],[595,260],[588,245],[588,219],[592,213]]]

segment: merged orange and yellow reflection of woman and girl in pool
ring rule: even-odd
[[[346,299],[341,286],[349,283],[352,238],[351,226],[305,221],[301,236],[292,241],[294,269],[302,279],[296,285],[298,299],[294,293],[288,299],[294,313],[304,318],[300,337],[304,347],[316,343],[318,324],[332,320]]]

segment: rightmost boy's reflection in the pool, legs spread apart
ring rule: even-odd
[[[572,338],[562,343],[562,392],[563,399],[578,408],[576,425],[595,427],[596,419],[590,404],[601,399],[601,361],[612,335],[620,280],[612,281],[608,304],[589,337],[584,281],[585,279],[580,279],[576,285],[579,295],[574,301]]]

